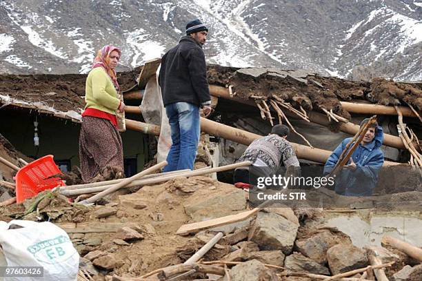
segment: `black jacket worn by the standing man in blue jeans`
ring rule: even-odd
[[[201,44],[190,36],[181,37],[179,44],[161,59],[159,84],[164,106],[179,101],[197,106],[210,104],[205,55]]]

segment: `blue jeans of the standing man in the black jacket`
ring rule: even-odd
[[[188,102],[175,102],[165,106],[165,112],[172,132],[172,147],[163,171],[193,170],[200,133],[199,107]]]

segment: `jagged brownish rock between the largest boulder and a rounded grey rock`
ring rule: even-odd
[[[328,229],[323,229],[312,235],[310,238],[296,240],[296,246],[305,257],[311,258],[319,264],[327,262],[327,251],[332,246],[342,243],[352,243],[347,235],[332,233]]]

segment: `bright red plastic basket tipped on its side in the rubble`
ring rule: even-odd
[[[59,177],[51,177],[57,174],[61,174],[61,171],[54,163],[53,155],[41,157],[21,168],[15,177],[16,202],[21,203],[46,189],[65,186]]]

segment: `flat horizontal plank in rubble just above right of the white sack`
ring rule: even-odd
[[[67,233],[113,233],[124,226],[137,226],[136,222],[63,222],[57,223]]]

